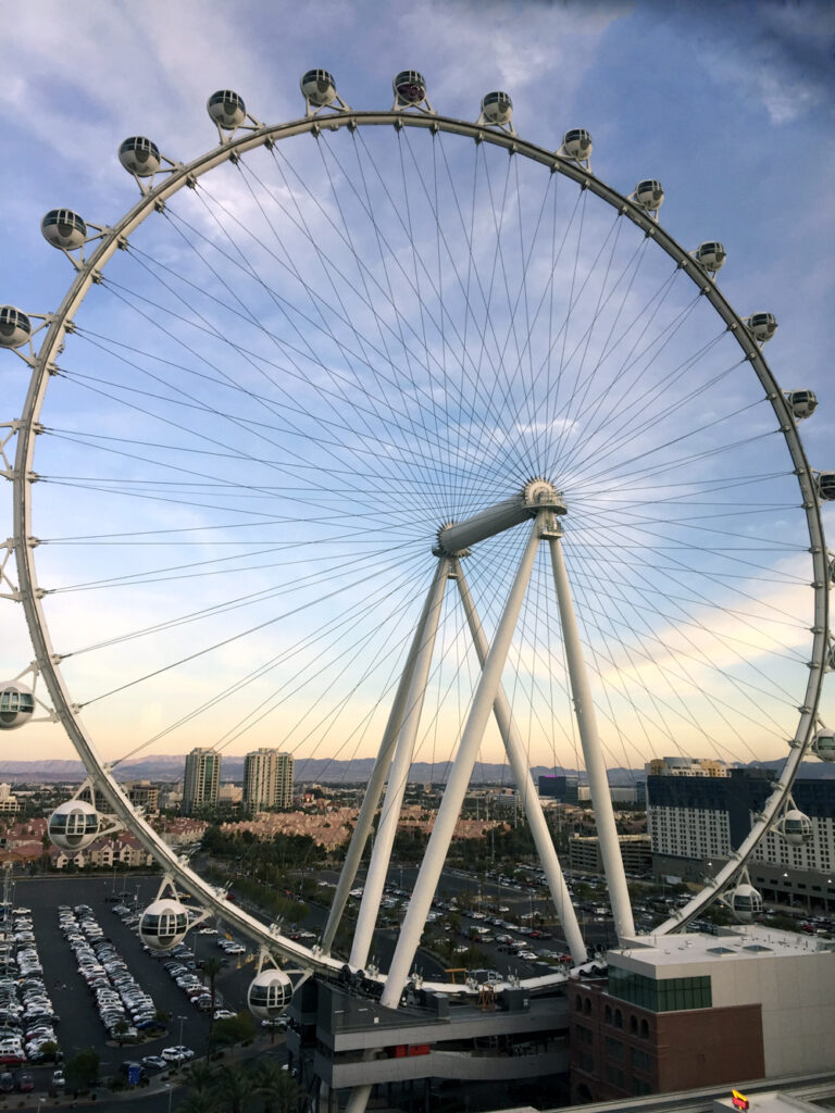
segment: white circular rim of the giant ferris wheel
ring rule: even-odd
[[[139,201],[129,209],[111,228],[105,229],[100,242],[90,252],[84,264],[78,267],[75,280],[70,285],[58,311],[47,318],[46,335],[37,356],[28,362],[32,376],[26,398],[22,420],[18,431],[17,457],[13,481],[14,501],[14,551],[20,579],[20,595],[26,612],[39,674],[43,677],[58,719],[62,722],[76,750],[81,757],[89,776],[97,787],[101,788],[115,814],[128,825],[140,841],[169,873],[178,884],[187,888],[196,899],[223,916],[244,935],[264,946],[272,953],[293,962],[302,963],[323,972],[334,972],[342,963],[323,955],[315,948],[310,949],[298,943],[271,930],[258,920],[245,914],[242,909],[230,906],[212,886],[203,880],[165,844],[138,816],[119,788],[112,774],[107,768],[88,737],[86,728],[79,719],[78,710],[61,674],[56,659],[47,619],[41,604],[37,571],[33,561],[35,543],[31,531],[31,499],[35,464],[35,443],[39,431],[42,404],[50,380],[50,368],[53,366],[67,332],[71,331],[71,322],[84,298],[98,280],[104,267],[118,248],[129,238],[139,225],[155,210],[165,205],[185,186],[193,185],[205,174],[243,154],[264,145],[276,144],[299,135],[317,135],[324,130],[336,131],[348,128],[422,128],[433,132],[445,132],[469,138],[477,144],[495,145],[514,156],[529,159],[558,173],[579,184],[607,203],[620,215],[626,216],[636,226],[651,237],[676,265],[696,284],[699,293],[710,303],[713,308],[731,332],[739,344],[744,357],[759,378],[784,434],[790,459],[794,463],[797,482],[802,492],[803,508],[809,534],[809,548],[814,568],[815,590],[815,626],[813,637],[812,660],[808,662],[808,683],[799,706],[799,718],[794,738],[789,740],[789,752],[779,780],[772,792],[763,812],[756,818],[750,834],[733,853],[727,865],[713,877],[708,885],[695,896],[676,916],[658,928],[661,933],[682,927],[699,914],[718,892],[725,888],[745,866],[756,845],[777,817],[787,800],[792,782],[796,776],[800,760],[811,745],[815,728],[821,697],[821,686],[825,671],[828,631],[828,568],[827,553],[821,521],[821,508],[815,484],[815,473],[806,459],[794,417],[786,398],[766,364],[762,351],[754,342],[743,318],[730,307],[716,284],[710,282],[705,272],[692,257],[644,209],[633,201],[616,191],[590,170],[578,162],[559,154],[553,154],[542,147],[521,139],[515,134],[492,128],[483,124],[471,124],[443,116],[403,112],[403,111],[354,111],[342,109],[333,115],[305,117],[282,125],[257,126],[252,130],[233,135],[219,147],[198,156],[190,162],[171,164],[158,185],[143,193]]]

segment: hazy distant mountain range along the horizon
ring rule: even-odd
[[[782,762],[776,761],[749,761],[746,768],[762,768],[778,770]],[[120,781],[126,780],[154,780],[168,781],[174,784],[183,779],[185,766],[185,755],[151,755],[144,758],[135,758],[130,761],[120,762],[115,774]],[[320,781],[322,784],[363,784],[371,776],[374,767],[373,758],[357,758],[351,761],[337,761],[330,758],[301,758],[296,761],[295,779],[297,784]],[[446,781],[451,764],[438,761],[434,765],[428,761],[415,761],[412,765],[409,779],[416,785],[443,784]],[[554,774],[579,777],[580,782],[586,782],[584,770],[563,769],[553,766],[533,766],[531,776],[536,782],[538,777],[552,776]],[[822,779],[835,777],[835,767],[823,761],[804,761],[800,766],[800,776],[809,779]],[[78,784],[84,780],[85,770],[80,761],[9,761],[0,759],[0,780],[11,784]],[[243,757],[223,758],[220,779],[224,781],[243,781],[244,759]],[[644,769],[617,768],[609,770],[609,784],[616,786],[633,785],[637,780],[644,780]],[[513,774],[510,766],[500,762],[475,764],[472,780],[474,784],[507,785],[513,787]]]

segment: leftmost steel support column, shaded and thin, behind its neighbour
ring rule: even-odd
[[[392,709],[389,712],[389,721],[385,725],[383,740],[380,743],[380,750],[365,789],[365,796],[363,797],[362,807],[360,808],[360,815],[356,817],[354,834],[351,836],[351,843],[348,844],[347,854],[345,855],[345,861],[340,874],[340,879],[336,884],[333,903],[331,904],[331,912],[328,913],[325,930],[322,935],[322,949],[326,955],[331,953],[336,930],[340,926],[340,922],[342,920],[342,914],[345,910],[345,905],[347,904],[348,894],[354,886],[356,871],[360,868],[365,844],[369,840],[372,824],[374,823],[374,815],[380,805],[380,796],[389,775],[392,750],[394,749],[394,743],[397,740],[400,728],[403,722],[406,700],[412,687],[412,677],[414,676],[414,666],[418,660],[418,653],[420,652],[421,646],[424,641],[426,623],[432,610],[432,599],[434,597],[435,587],[439,581],[441,583],[444,582],[444,579],[441,577],[441,563],[443,562],[439,561],[439,567],[435,569],[435,574],[432,578],[432,583],[430,584],[429,592],[426,593],[426,601],[423,604],[421,617],[418,620],[414,637],[412,638],[412,644],[409,649],[409,656],[406,657],[406,662],[403,666],[403,672],[401,673],[400,682],[397,684],[397,691],[394,696],[394,702],[392,703]],[[449,569],[444,570],[444,578],[446,575],[446,571],[449,571]]]

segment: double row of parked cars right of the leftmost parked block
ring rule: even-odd
[[[139,1038],[144,1030],[163,1028],[154,998],[137,983],[114,944],[105,938],[89,905],[59,906],[58,923],[75,952],[78,973],[96,998],[108,1036],[129,1043]]]

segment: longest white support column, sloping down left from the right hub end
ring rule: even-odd
[[[524,593],[528,589],[533,561],[537,555],[537,548],[540,538],[541,514],[537,515],[531,530],[528,543],[520,561],[517,575],[511,588],[504,612],[499,622],[493,644],[490,647],[481,679],[475,689],[470,717],[466,720],[458,755],[452,766],[443,800],[438,809],[435,825],[429,839],[426,853],[415,881],[412,899],[409,903],[405,919],[400,932],[397,946],[389,969],[389,976],[380,998],[381,1004],[389,1008],[396,1008],[403,987],[409,978],[418,946],[421,942],[423,928],[426,925],[426,916],[432,907],[432,897],[438,889],[438,881],[446,860],[446,851],[455,830],[455,824],[461,815],[461,806],[466,795],[470,784],[472,767],[484,736],[490,712],[495,700],[495,693],[501,682],[501,674],[504,662],[510,650],[510,642],[515,630],[519,612],[522,607]]]

